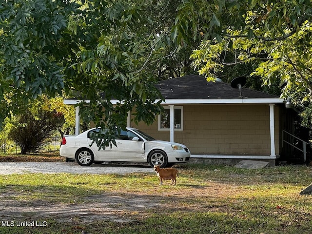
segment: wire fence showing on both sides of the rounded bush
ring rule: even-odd
[[[39,152],[52,152],[59,150],[61,137],[49,137],[39,147]],[[1,153],[4,154],[18,154],[20,153],[20,147],[14,143],[11,139],[4,139],[0,142]]]

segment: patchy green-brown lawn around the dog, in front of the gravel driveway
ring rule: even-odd
[[[310,167],[187,164],[177,169],[176,186],[169,181],[159,186],[152,173],[1,176],[1,205],[24,209],[2,213],[0,233],[312,233],[312,197],[299,195],[312,183]],[[51,209],[56,212],[42,213]],[[22,224],[29,227],[18,227]]]

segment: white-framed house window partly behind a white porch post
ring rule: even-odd
[[[164,107],[164,112],[158,116],[158,131],[170,130],[170,107]],[[183,130],[183,107],[175,106],[175,130]]]

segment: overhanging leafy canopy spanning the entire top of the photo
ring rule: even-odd
[[[208,78],[231,51],[234,63],[255,63],[252,75],[265,84],[280,76],[284,97],[300,92],[300,101],[311,100],[309,0],[183,0],[175,2],[176,18],[167,23],[164,19],[173,18],[172,11],[166,13],[171,3],[2,1],[0,120],[29,98],[77,92],[77,98],[91,100],[80,104],[82,117],[110,129],[105,136],[116,125],[124,127],[134,107],[136,121],[151,123],[161,107],[154,104],[160,94],[150,66],[194,42],[201,42],[192,56],[195,65]],[[158,14],[153,5],[161,9]],[[163,26],[156,27],[157,20]],[[111,98],[120,101],[114,108]]]

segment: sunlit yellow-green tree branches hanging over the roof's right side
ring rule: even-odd
[[[180,5],[173,30],[177,43],[188,43],[190,36],[201,39],[192,58],[208,80],[227,65],[252,65],[251,77],[268,86],[279,82],[282,98],[296,97],[298,106],[307,107],[312,100],[311,21],[309,0],[190,0]]]

